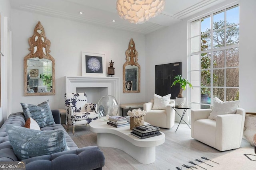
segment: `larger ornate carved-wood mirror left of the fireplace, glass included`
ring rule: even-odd
[[[28,39],[30,53],[24,58],[24,96],[55,94],[55,61],[49,54],[51,42],[38,21]]]

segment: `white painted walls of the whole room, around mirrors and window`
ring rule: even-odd
[[[240,107],[246,112],[255,112],[251,101],[256,100],[256,90],[253,88],[256,84],[253,78],[253,72],[256,72],[256,21],[250,20],[256,14],[254,0],[222,1],[174,25],[150,33],[116,29],[111,26],[112,21],[103,27],[97,21],[86,23],[66,14],[56,13],[52,16],[34,12],[37,10],[35,6],[34,10],[28,12],[12,8],[8,0],[0,3],[1,52],[4,54],[1,57],[0,125],[11,113],[22,111],[20,102],[39,104],[50,100],[51,109],[64,108],[65,76],[82,76],[81,52],[105,54],[106,66],[111,60],[114,62],[114,76],[120,78],[120,104],[149,102],[155,92],[155,65],[182,62],[182,76],[188,78],[188,21],[229,4],[240,4]],[[51,41],[50,55],[56,63],[56,94],[52,96],[24,96],[23,60],[29,53],[28,38],[32,36],[38,21],[42,23],[46,37]],[[125,51],[131,38],[136,44],[138,63],[141,66],[140,93],[122,93],[122,66],[126,61]],[[186,90],[184,96],[189,98],[188,94]]]

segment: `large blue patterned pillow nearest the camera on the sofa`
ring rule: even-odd
[[[68,150],[62,130],[38,131],[15,125],[6,125],[6,132],[19,160]]]

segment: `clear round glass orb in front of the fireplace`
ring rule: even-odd
[[[116,116],[118,113],[118,103],[116,98],[111,95],[102,96],[97,104],[97,109],[100,118],[105,117],[106,115]]]

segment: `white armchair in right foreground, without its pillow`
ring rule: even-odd
[[[212,109],[191,111],[191,137],[220,151],[237,149],[242,142],[245,110],[208,119]]]

